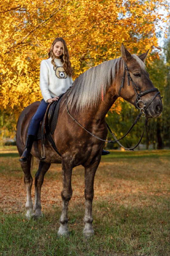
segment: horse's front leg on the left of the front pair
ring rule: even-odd
[[[62,214],[60,217],[60,227],[58,230],[59,236],[68,236],[69,231],[67,227],[68,223],[68,205],[69,201],[72,196],[72,188],[71,188],[71,175],[72,175],[72,164],[71,160],[67,159],[67,157],[62,158],[62,175],[63,175],[63,190],[61,193],[62,200],[63,200],[63,208],[62,208]]]

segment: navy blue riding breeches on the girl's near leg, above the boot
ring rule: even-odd
[[[35,112],[28,128],[29,135],[37,135],[40,123],[45,115],[48,104],[49,103],[46,103],[45,100],[41,100],[40,106],[37,108],[37,111]]]

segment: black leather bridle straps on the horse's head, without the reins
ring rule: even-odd
[[[131,78],[131,76],[130,76],[130,74],[129,74],[129,71],[128,71],[127,64],[126,64],[126,62],[125,62],[125,65],[124,65],[124,74],[123,74],[123,77],[122,77],[122,83],[121,83],[121,86],[120,86],[120,88],[119,88],[119,96],[120,96],[120,97],[121,97],[121,89],[122,89],[123,84],[124,84],[124,79],[125,79],[125,74],[126,74],[126,73],[127,73],[127,77],[128,77],[128,86],[130,86],[130,81],[131,81],[132,86],[133,86],[133,89],[134,89],[135,94],[136,94],[136,101],[134,102],[134,104],[136,105],[136,108],[138,108],[138,109],[141,110],[142,116],[145,117],[145,113],[144,113],[145,109],[149,107],[149,105],[151,104],[151,102],[156,98],[156,96],[157,96],[160,92],[159,92],[158,88],[152,88],[152,89],[148,89],[148,90],[142,92],[142,91],[138,88],[137,84],[135,84],[135,82],[132,80],[132,78]],[[137,91],[139,91],[140,93],[138,94]],[[141,97],[144,96],[144,95],[147,94],[147,93],[150,93],[150,92],[157,92],[157,93],[153,96],[152,100],[151,100],[147,105],[145,105],[144,101],[141,100]],[[139,105],[138,105],[139,102],[143,104],[143,107],[142,107],[142,108],[139,107]]]

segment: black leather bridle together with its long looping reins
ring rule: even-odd
[[[158,88],[152,88],[152,89],[148,89],[148,90],[142,92],[142,91],[137,87],[137,85],[136,85],[135,82],[132,80],[132,78],[130,77],[130,74],[129,74],[129,71],[128,71],[128,67],[127,67],[127,64],[126,64],[126,62],[125,62],[125,65],[124,65],[124,73],[123,73],[123,77],[122,77],[122,83],[121,83],[120,88],[119,88],[119,96],[120,96],[120,97],[121,97],[121,95],[120,95],[120,94],[121,94],[121,89],[123,88],[123,84],[124,84],[124,79],[125,79],[126,73],[127,73],[127,77],[128,77],[128,86],[130,86],[130,82],[131,82],[132,87],[133,87],[133,89],[134,89],[134,91],[135,91],[135,94],[136,94],[136,102],[135,102],[135,105],[136,105],[136,108],[140,109],[140,113],[139,113],[139,115],[136,117],[135,121],[133,122],[133,124],[132,124],[132,126],[129,128],[129,130],[128,130],[120,139],[117,140],[117,138],[115,137],[114,133],[111,131],[111,129],[110,129],[110,127],[108,126],[107,123],[106,123],[106,124],[107,124],[107,128],[108,128],[109,132],[112,134],[112,136],[113,136],[113,138],[114,138],[115,140],[103,140],[103,139],[99,138],[97,135],[93,134],[92,132],[89,132],[88,130],[86,130],[85,127],[83,127],[80,123],[78,123],[78,121],[70,114],[70,112],[69,112],[69,110],[68,110],[67,99],[68,99],[68,95],[69,95],[69,92],[70,92],[70,91],[68,92],[67,98],[66,98],[66,109],[67,109],[68,115],[73,119],[73,121],[74,121],[76,124],[78,124],[81,128],[83,128],[86,132],[88,132],[88,133],[91,134],[93,137],[95,137],[96,139],[101,140],[101,141],[104,141],[104,142],[109,142],[109,143],[117,142],[117,143],[118,143],[122,148],[124,148],[124,149],[127,149],[127,150],[134,150],[134,149],[139,145],[139,143],[141,142],[141,140],[142,140],[142,138],[143,138],[144,131],[145,131],[145,128],[146,128],[146,125],[147,125],[147,122],[148,122],[148,118],[145,119],[144,131],[143,131],[142,136],[141,136],[141,138],[140,138],[140,140],[139,140],[139,142],[137,143],[136,146],[134,146],[133,148],[125,148],[125,147],[119,142],[119,140],[122,140],[122,139],[131,131],[131,129],[134,127],[135,124],[137,124],[137,122],[138,122],[138,120],[139,120],[139,118],[140,118],[141,116],[142,116],[142,117],[145,117],[144,111],[149,107],[149,105],[152,103],[152,101],[156,98],[156,96],[157,96],[160,92],[159,92]],[[138,94],[137,91],[139,91],[140,93]],[[153,96],[152,100],[151,100],[147,105],[145,105],[144,101],[141,100],[141,97],[142,97],[143,95],[147,94],[147,93],[150,93],[150,92],[156,92],[156,94]],[[138,105],[139,102],[143,104],[143,107],[142,107],[142,108],[139,107],[139,105]]]

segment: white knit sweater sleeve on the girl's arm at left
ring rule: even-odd
[[[49,72],[46,61],[41,61],[40,66],[40,90],[42,93],[42,97],[47,102],[47,100],[51,99],[51,95],[48,90],[48,84],[49,84]]]

